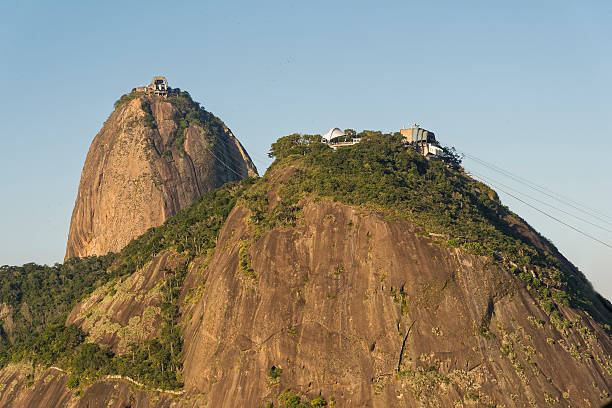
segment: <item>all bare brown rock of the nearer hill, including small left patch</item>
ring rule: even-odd
[[[280,205],[278,186],[291,177],[290,170],[277,173],[264,179],[268,211]],[[307,400],[322,395],[336,407],[610,401],[612,308],[605,299],[585,293],[595,299],[597,320],[560,305],[567,324],[559,326],[537,293],[491,258],[376,208],[305,200],[295,226],[257,231],[247,207],[238,203],[215,250],[186,266],[178,301],[183,389],[111,374],[77,392],[61,369],[11,365],[0,371],[0,407],[283,407],[286,389]],[[512,223],[582,279],[529,225]],[[251,272],[241,265],[247,243]],[[68,322],[117,353],[122,341],[151,338],[159,326],[155,288],[179,262],[176,252],[157,254],[114,287],[94,291]]]

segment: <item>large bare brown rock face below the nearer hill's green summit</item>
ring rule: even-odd
[[[187,394],[218,407],[264,406],[286,388],[341,407],[598,407],[610,397],[601,326],[566,307],[573,327],[562,334],[486,257],[320,202],[300,227],[254,243],[251,279],[239,268],[247,218],[234,210],[206,272],[186,281],[206,282],[185,310]]]

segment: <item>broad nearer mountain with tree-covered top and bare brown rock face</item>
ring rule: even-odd
[[[0,406],[609,401],[610,302],[486,185],[359,137],[281,138],[116,255],[3,267]]]

